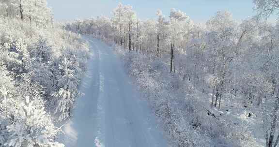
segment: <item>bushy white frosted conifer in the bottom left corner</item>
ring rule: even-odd
[[[29,97],[17,105],[14,123],[6,126],[8,136],[4,147],[64,147],[53,141],[56,128],[44,108],[38,108]]]

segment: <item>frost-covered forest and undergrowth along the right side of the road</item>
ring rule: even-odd
[[[258,14],[241,22],[217,11],[197,24],[176,9],[141,21],[119,4],[64,28],[115,44],[174,147],[277,147],[279,25],[262,18],[279,1],[251,1]]]

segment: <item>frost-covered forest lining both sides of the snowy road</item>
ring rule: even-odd
[[[278,147],[279,0],[253,0],[242,21],[217,11],[205,24],[172,8],[140,20],[55,23],[46,0],[0,0],[0,147],[64,147],[90,58],[90,35],[112,46],[148,101],[169,147]],[[94,12],[92,12],[94,13]]]

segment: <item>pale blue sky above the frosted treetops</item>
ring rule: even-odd
[[[130,4],[140,19],[155,18],[157,9],[168,16],[171,8],[186,12],[194,22],[205,23],[219,10],[228,10],[240,21],[256,15],[252,0],[47,0],[58,21],[111,15],[119,2]],[[275,19],[272,18],[271,21]]]

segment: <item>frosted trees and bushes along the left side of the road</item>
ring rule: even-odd
[[[0,147],[63,147],[53,122],[72,115],[88,58],[46,0],[0,0]]]

